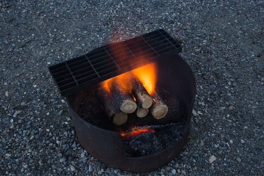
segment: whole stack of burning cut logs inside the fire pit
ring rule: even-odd
[[[168,106],[158,93],[154,91],[150,95],[132,73],[126,73],[123,79],[114,77],[107,84],[110,92],[98,88],[95,96],[115,125],[126,123],[127,114],[133,112],[140,118],[150,112],[155,119],[163,118],[168,112]]]

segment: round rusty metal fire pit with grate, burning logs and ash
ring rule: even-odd
[[[179,155],[196,93],[179,52],[160,29],[49,67],[90,155],[130,172],[158,169]]]

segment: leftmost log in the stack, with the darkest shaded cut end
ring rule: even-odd
[[[127,114],[119,110],[110,92],[106,91],[104,88],[98,88],[95,91],[95,97],[103,106],[109,119],[115,125],[123,125],[126,123]]]

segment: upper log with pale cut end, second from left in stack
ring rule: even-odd
[[[137,109],[136,101],[122,79],[115,77],[107,84],[117,106],[122,112],[130,114]]]

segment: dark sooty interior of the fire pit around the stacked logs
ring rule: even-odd
[[[72,102],[71,106],[88,123],[108,131],[117,132],[120,135],[131,131],[132,128],[150,128],[155,131],[154,138],[143,142],[135,141],[138,139],[133,138],[132,143],[131,139],[126,140],[123,137],[126,157],[140,157],[159,153],[180,140],[187,130],[187,120],[194,91],[190,87],[193,87],[193,85],[188,85],[188,81],[183,80],[191,80],[193,77],[189,73],[185,74],[190,70],[182,62],[184,61],[177,59],[177,57],[163,58],[156,62],[158,65],[156,91],[169,109],[162,119],[155,119],[150,113],[143,118],[139,118],[132,113],[128,114],[128,120],[125,124],[121,126],[114,125],[94,96],[94,89],[100,87],[100,84],[83,89],[74,96],[69,96],[74,99],[70,101]],[[183,67],[177,67],[177,65]],[[144,136],[145,133],[142,133],[142,135]],[[147,135],[150,134],[147,133]]]

